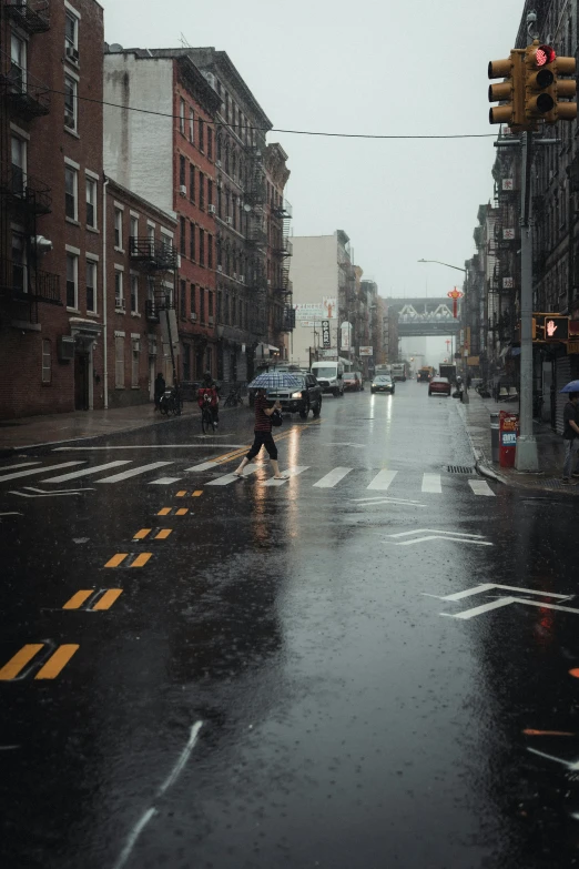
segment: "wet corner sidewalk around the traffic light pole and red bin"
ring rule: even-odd
[[[519,412],[518,402],[497,403],[492,398],[481,398],[480,395],[470,390],[468,393],[469,403],[458,404],[458,412],[461,415],[473,452],[477,463],[477,471],[484,476],[489,476],[505,483],[509,486],[524,488],[540,488],[547,491],[568,492],[572,495],[579,495],[579,486],[563,486],[561,483],[561,468],[563,463],[563,439],[549,426],[539,423],[534,424],[534,434],[537,438],[539,452],[539,474],[526,474],[516,471],[514,467],[500,467],[498,463],[492,462],[490,446],[490,414],[499,411]]]

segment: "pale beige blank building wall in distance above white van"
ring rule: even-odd
[[[290,279],[293,283],[293,303],[322,305],[324,296],[338,300],[339,266],[337,236],[293,235],[293,256],[290,261]],[[337,312],[336,312],[337,314]],[[338,320],[332,321],[332,345],[337,347]],[[318,330],[319,332],[319,330]],[[296,321],[292,333],[290,355],[293,362],[309,364],[309,347],[319,346],[322,336],[314,336],[314,330]]]

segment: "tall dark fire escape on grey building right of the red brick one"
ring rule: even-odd
[[[250,299],[248,329],[256,337],[267,335],[267,274],[266,250],[267,230],[265,218],[265,164],[261,148],[247,148],[247,185],[245,203],[251,208],[247,225],[247,247],[250,251]]]

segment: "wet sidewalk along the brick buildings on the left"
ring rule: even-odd
[[[182,416],[199,414],[195,402],[187,402]],[[138,404],[132,407],[114,407],[109,411],[73,411],[47,416],[26,416],[0,422],[0,456],[32,446],[44,446],[75,441],[80,437],[99,437],[114,432],[130,432],[148,425],[163,425],[180,417],[162,416],[154,405]]]

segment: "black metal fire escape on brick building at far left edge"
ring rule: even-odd
[[[50,29],[48,0],[9,0],[2,7],[4,19],[29,37]],[[10,28],[4,27],[8,41]],[[50,112],[48,88],[33,79],[12,55],[10,47],[2,47],[0,58],[0,99],[2,101],[0,137],[10,143],[10,120],[33,121]],[[12,153],[11,162],[0,163],[0,299],[11,309],[17,320],[38,323],[38,304],[62,304],[60,276],[39,267],[42,251],[51,244],[38,234],[38,219],[52,211],[50,189],[26,172],[26,163]],[[8,230],[13,221],[21,233]]]

